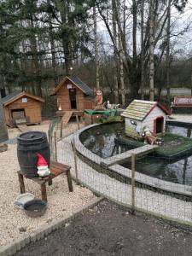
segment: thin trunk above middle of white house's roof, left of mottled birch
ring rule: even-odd
[[[144,100],[144,0],[141,0],[141,99]]]

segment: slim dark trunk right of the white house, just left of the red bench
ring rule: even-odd
[[[166,26],[166,96],[168,103],[171,103],[170,96],[170,24],[171,24],[171,3],[167,0],[167,26]]]

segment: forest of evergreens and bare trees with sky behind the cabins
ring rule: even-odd
[[[73,75],[110,102],[169,108],[171,88],[192,93],[191,28],[190,0],[1,0],[0,88],[44,97],[48,114]]]

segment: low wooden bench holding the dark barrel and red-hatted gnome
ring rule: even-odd
[[[50,186],[52,184],[52,179],[64,172],[67,175],[68,189],[70,192],[73,192],[73,183],[72,183],[72,177],[70,173],[71,166],[67,166],[55,161],[51,161],[49,169],[51,174],[48,177],[26,177],[40,185],[42,200],[47,201],[46,183],[48,183],[48,185]],[[20,183],[20,193],[21,194],[26,193],[25,183],[24,183],[25,176],[20,171],[18,171],[17,173],[18,173],[19,183]]]

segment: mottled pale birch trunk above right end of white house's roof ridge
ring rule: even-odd
[[[149,4],[149,100],[154,101],[154,0]]]

